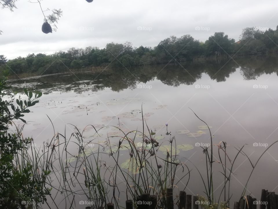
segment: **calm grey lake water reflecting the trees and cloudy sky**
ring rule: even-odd
[[[276,56],[252,56],[42,75],[9,80],[8,84],[18,93],[17,96],[23,98],[25,87],[43,92],[39,103],[24,116],[28,122],[23,136],[32,136],[37,148],[54,136],[52,123],[55,134],[66,134],[66,138],[76,131],[74,126],[81,131],[87,125],[97,128],[110,126],[101,129],[98,136],[94,129],[86,128],[85,140],[95,138],[103,141],[107,136],[118,135],[119,130],[113,126],[119,125],[124,132],[137,129],[142,132],[142,107],[145,130],[147,124],[149,129],[156,132],[160,146],[169,145],[167,140],[173,136],[177,145],[192,145],[192,149],[181,149],[177,154],[177,158],[191,170],[185,191],[187,194],[205,196],[202,179],[194,165],[206,176],[206,158],[199,145],[207,145],[211,140],[209,130],[203,127],[204,122],[195,116],[194,111],[211,127],[215,161],[213,189],[216,197],[219,197],[224,181],[216,145],[221,141],[226,142],[227,154],[234,159],[237,149],[246,144],[244,153],[239,154],[235,161],[231,175],[231,202],[234,202],[239,201],[252,171],[248,158],[254,165],[264,150],[278,138],[277,70]],[[20,121],[15,123],[23,125]],[[167,128],[165,124],[168,124]],[[171,135],[166,134],[167,130]],[[142,138],[136,138],[136,142],[140,140]],[[114,144],[118,142],[114,138],[110,138],[110,141]],[[69,150],[73,153],[78,151],[74,146],[69,146]],[[129,159],[128,152],[122,153],[121,163]],[[163,156],[161,151],[158,154]],[[101,158],[107,164],[115,164],[108,152],[101,154]],[[277,163],[277,145],[273,145],[255,167],[246,195],[260,199],[261,189],[278,190]],[[182,169],[177,173],[178,176],[184,174]],[[184,189],[187,180],[186,177],[179,182],[180,190]],[[126,187],[119,187],[123,188],[120,203],[125,205]],[[176,189],[174,194],[177,192]],[[111,192],[109,195],[111,197]],[[58,202],[64,201],[62,197],[57,199]],[[74,207],[84,209],[84,205],[78,204],[80,200],[87,199],[76,195]]]

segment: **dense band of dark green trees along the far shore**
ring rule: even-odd
[[[0,55],[2,73],[50,74],[82,69],[85,67],[117,68],[184,62],[208,57],[232,57],[233,55],[253,55],[276,52],[278,49],[278,26],[266,31],[255,27],[244,28],[240,41],[235,42],[224,32],[216,32],[205,42],[191,35],[171,36],[155,47],[133,47],[131,42],[124,44],[108,43],[105,48],[88,46],[70,48],[50,55],[28,54],[12,60]]]

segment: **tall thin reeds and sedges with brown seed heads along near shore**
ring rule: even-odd
[[[199,118],[197,114],[195,115]],[[200,120],[204,122],[204,120]],[[233,195],[231,194],[230,183],[235,161],[239,155],[248,158],[243,152],[245,145],[235,148],[237,152],[231,158],[227,154],[228,145],[226,142],[221,141],[219,144],[213,145],[210,127],[206,122],[204,123],[209,129],[211,142],[209,147],[202,147],[206,159],[206,172],[202,174],[199,169],[201,165],[195,165],[189,159],[185,159],[192,163],[200,174],[204,192],[210,204],[218,205],[220,200],[222,200],[225,207],[229,207],[230,199]],[[109,136],[107,134],[104,143],[95,142],[95,137],[92,137],[90,141],[85,141],[84,131],[90,127],[96,134],[99,134],[105,127],[97,129],[92,125],[88,125],[84,129],[78,129],[78,127],[72,126],[75,131],[70,136],[66,136],[66,131],[63,134],[56,133],[52,124],[54,136],[44,142],[41,148],[33,146],[33,140],[30,139],[27,149],[17,153],[14,162],[16,167],[19,170],[23,170],[23,168],[32,166],[32,176],[36,185],[51,193],[44,200],[37,200],[37,204],[32,206],[25,205],[22,208],[45,208],[45,206],[57,209],[63,207],[85,208],[85,205],[80,205],[79,201],[90,201],[91,208],[98,208],[99,206],[106,208],[109,202],[114,203],[116,208],[125,208],[125,200],[127,199],[133,200],[134,207],[137,207],[137,197],[142,194],[156,195],[158,199],[157,207],[166,208],[167,188],[172,188],[177,193],[174,201],[178,204],[179,191],[186,189],[190,180],[191,170],[188,165],[178,159],[174,136],[167,135],[169,136],[168,140],[163,142],[168,143],[171,147],[171,149],[167,150],[166,157],[162,158],[158,154],[158,148],[163,143],[155,139],[156,131],[153,132],[149,129],[143,113],[142,131],[125,132],[122,131],[121,127],[112,126],[119,129],[121,134],[117,136]],[[23,127],[17,129],[17,136],[19,140],[25,143],[21,134]],[[136,140],[138,135],[142,136],[142,145],[140,147],[138,147]],[[115,142],[116,146],[114,146]],[[91,149],[90,145],[94,145],[96,150],[88,152]],[[149,149],[147,149],[147,146]],[[216,147],[218,151],[217,160],[213,155],[213,147]],[[77,154],[74,153],[76,148],[78,149]],[[126,156],[129,159],[128,169],[121,166]],[[250,176],[261,156],[254,165],[248,158],[253,167]],[[106,160],[109,163],[106,163]],[[222,167],[222,171],[219,172],[223,174],[224,180],[219,197],[215,197],[215,191],[213,190],[213,181],[215,181],[213,178],[213,165],[216,162],[220,163]],[[241,196],[245,195],[250,176],[246,181],[245,189]],[[185,182],[184,187],[179,186],[181,182]],[[36,194],[34,193],[32,197],[36,199]],[[123,197],[125,199],[122,199]]]

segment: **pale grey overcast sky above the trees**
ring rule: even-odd
[[[14,12],[0,10],[0,54],[12,59],[126,41],[153,47],[171,35],[190,34],[205,41],[220,31],[237,41],[242,28],[278,25],[278,1],[273,0],[44,0],[41,4],[43,9],[63,10],[57,31],[42,33],[39,4],[20,0]]]

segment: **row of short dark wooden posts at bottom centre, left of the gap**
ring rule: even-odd
[[[173,209],[174,208],[174,200],[173,200],[173,189],[168,188],[166,194],[166,208]],[[184,191],[180,191],[180,201],[179,208],[180,209],[191,209],[191,194],[186,194]],[[139,195],[136,198],[136,204],[138,209],[157,209],[157,197],[156,195],[143,194]],[[199,205],[196,204],[197,196],[193,196],[193,209],[198,209]],[[148,205],[142,203],[149,203]],[[133,209],[133,201],[127,200],[125,201],[126,209]],[[90,209],[91,207],[86,207],[85,209]],[[98,209],[104,209],[104,207],[99,206]],[[114,209],[113,203],[107,204],[107,209]]]

